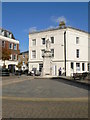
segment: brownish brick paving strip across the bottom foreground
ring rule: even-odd
[[[3,118],[87,118],[87,102],[17,102],[3,100]]]

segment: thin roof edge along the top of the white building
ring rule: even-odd
[[[47,31],[54,31],[54,30],[60,30],[60,29],[66,29],[66,28],[70,28],[70,29],[78,30],[80,32],[88,33],[87,31],[67,26],[67,27],[64,27],[64,28],[58,27],[58,28],[51,28],[51,29],[47,29],[47,30],[35,31],[35,32],[31,32],[31,33],[29,32],[29,34],[35,34],[35,33],[47,32]]]

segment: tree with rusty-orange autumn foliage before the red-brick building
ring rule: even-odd
[[[2,48],[2,60],[4,61],[3,67],[5,68],[5,60],[9,60],[11,55],[11,51],[7,48]]]

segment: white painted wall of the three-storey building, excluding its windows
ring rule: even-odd
[[[29,34],[29,70],[36,67],[39,70],[39,63],[43,63],[41,57],[41,49],[45,49],[46,45],[42,45],[42,39],[46,35],[54,37],[54,44],[51,44],[51,49],[54,48],[54,58],[52,58],[52,68],[64,68],[64,32],[66,31],[66,59],[67,59],[67,76],[72,75],[76,71],[76,63],[80,63],[80,72],[87,71],[90,41],[88,42],[88,33],[78,31],[72,28],[58,29],[52,31],[44,31],[39,33]],[[79,44],[76,44],[76,37],[79,37]],[[36,39],[36,46],[32,46],[32,39]],[[89,45],[88,45],[89,44]],[[76,58],[76,49],[80,49],[80,58]],[[32,59],[32,50],[36,50],[36,59]],[[74,69],[71,69],[71,62],[74,63]],[[85,63],[85,71],[82,71],[82,63]],[[55,70],[52,71],[54,75]]]

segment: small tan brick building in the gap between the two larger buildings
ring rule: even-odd
[[[21,69],[24,71],[28,69],[28,59],[29,59],[29,51],[21,52],[18,57],[18,62],[22,63]]]

